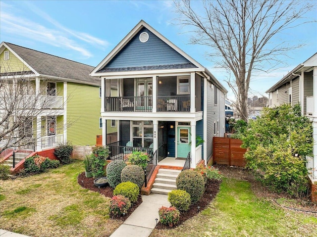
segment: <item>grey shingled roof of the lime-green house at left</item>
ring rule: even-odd
[[[99,78],[89,76],[94,67],[54,56],[34,49],[2,42],[0,52],[9,49],[35,76],[51,77],[62,81],[72,81],[88,85],[100,85]]]

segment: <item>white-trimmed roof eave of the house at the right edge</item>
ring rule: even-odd
[[[294,75],[299,72],[309,72],[312,70],[313,67],[317,66],[317,52],[309,57],[305,62],[299,64],[297,67],[295,67],[292,71],[287,73],[286,76],[284,76],[281,80],[279,80],[277,83],[275,83],[270,89],[268,89],[265,93],[270,93],[278,89],[280,86],[284,85],[287,82],[290,82],[294,78],[298,77],[299,75]]]

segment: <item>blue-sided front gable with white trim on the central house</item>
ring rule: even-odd
[[[138,39],[140,32],[147,32],[149,34],[149,39],[151,35],[153,35],[156,39],[158,39],[156,42],[160,44],[161,47],[164,47],[162,50],[169,50],[169,53],[173,53],[177,59],[174,58],[174,60],[171,60],[168,58],[168,60],[165,61],[161,60],[159,61],[158,58],[156,58],[156,63],[149,62],[149,60],[138,60],[138,65],[133,64],[131,62],[131,66],[123,66],[120,67],[119,63],[113,63],[116,61],[119,57],[122,57],[126,59],[125,55],[128,55],[127,51],[129,51],[129,44],[135,40]],[[161,44],[163,43],[163,44]],[[160,48],[161,49],[161,48]],[[124,51],[121,53],[121,50]],[[130,50],[131,52],[132,50]],[[142,51],[142,50],[140,50]],[[172,52],[173,51],[173,52]],[[127,53],[127,54],[125,54]],[[141,52],[142,53],[142,52]],[[146,53],[152,54],[152,51],[148,51]],[[124,55],[125,54],[125,55]],[[176,55],[178,54],[178,55]],[[131,56],[131,55],[130,55]],[[117,60],[119,61],[119,60]],[[123,60],[122,60],[123,61]],[[140,65],[141,62],[141,65]],[[147,63],[145,63],[147,62]],[[165,63],[164,63],[165,62]],[[166,63],[167,62],[167,63]],[[91,72],[91,76],[93,77],[99,77],[105,74],[109,73],[116,73],[115,75],[118,75],[118,73],[126,74],[129,72],[142,72],[147,73],[149,70],[179,70],[179,71],[189,71],[189,69],[193,69],[191,71],[200,71],[206,74],[207,78],[212,81],[225,93],[228,91],[221,85],[221,83],[211,74],[211,72],[203,67],[199,62],[197,62],[195,59],[193,59],[191,56],[189,56],[187,53],[185,53],[182,49],[175,46],[173,43],[171,43],[168,39],[166,39],[164,36],[162,36],[158,31],[156,31],[153,27],[151,27],[148,23],[141,20],[122,40],[121,42],[114,47],[110,53],[97,65],[97,67]]]

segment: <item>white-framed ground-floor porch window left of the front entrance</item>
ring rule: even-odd
[[[150,147],[153,143],[153,122],[132,121],[132,142],[136,147]]]

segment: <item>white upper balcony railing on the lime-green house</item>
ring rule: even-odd
[[[54,95],[21,95],[18,97],[20,108],[62,109],[63,96]]]

